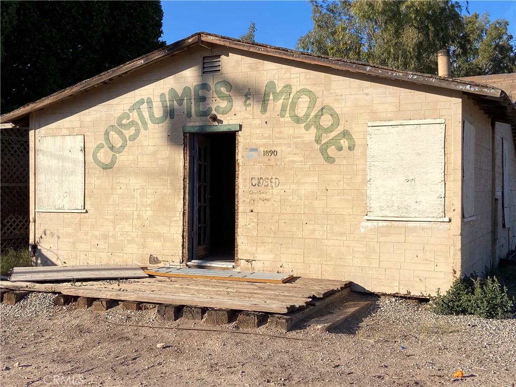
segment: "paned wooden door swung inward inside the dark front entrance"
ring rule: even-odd
[[[194,249],[195,259],[209,255],[210,246],[210,219],[209,219],[209,139],[196,135],[194,140],[194,201],[195,230]]]

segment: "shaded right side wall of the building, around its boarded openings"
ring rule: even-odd
[[[499,259],[514,249],[514,142],[509,124],[496,123],[493,132],[490,117],[467,98],[463,102],[463,117],[475,128],[475,148],[474,216],[462,221],[461,272],[464,275],[473,272],[481,275],[497,266]],[[504,157],[507,174],[505,187]],[[505,199],[508,205],[505,213],[509,218],[508,224],[505,224],[504,219],[504,190],[507,190]]]

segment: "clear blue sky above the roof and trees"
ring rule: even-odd
[[[463,13],[465,13],[465,1]],[[249,23],[256,25],[256,42],[294,49],[312,28],[312,7],[306,1],[162,1],[162,39],[173,43],[200,31],[239,38]],[[516,1],[470,1],[470,13],[488,11],[491,21],[509,21],[516,37]]]

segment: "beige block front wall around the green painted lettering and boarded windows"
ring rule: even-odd
[[[165,263],[179,263],[184,200],[181,128],[184,123],[206,124],[206,118],[192,114],[188,119],[176,106],[173,120],[149,123],[147,131],[128,141],[112,169],[99,168],[91,155],[105,141],[106,128],[140,98],[151,97],[159,115],[160,93],[227,80],[233,108],[219,118],[224,124],[242,125],[237,182],[241,269],[351,280],[363,289],[388,293],[429,294],[449,286],[454,270],[460,271],[460,92],[216,47],[211,53],[222,54],[223,73],[201,76],[201,56],[209,53],[190,50],[34,114],[33,147],[38,136],[84,134],[86,148],[88,212],[37,213],[32,208],[40,262],[148,263],[152,254]],[[272,100],[262,111],[270,81],[278,89],[291,85],[286,111],[282,101]],[[304,96],[296,104],[292,100],[301,95],[298,92]],[[208,98],[204,107],[225,105],[213,88],[203,95]],[[331,106],[337,117],[322,117],[320,141],[315,127],[305,130],[304,122],[295,122],[311,109],[307,95],[314,102],[310,119],[322,106]],[[132,117],[139,120],[137,112]],[[446,120],[445,216],[451,222],[364,220],[367,122],[438,118]],[[336,120],[336,128],[325,130]],[[330,147],[325,159],[321,145],[343,130],[352,140],[349,135],[349,141],[335,140],[337,148]],[[259,151],[250,156],[252,148]],[[265,156],[266,150],[277,153]],[[110,158],[106,151],[99,153],[104,163]],[[334,162],[328,163],[331,158]],[[275,187],[257,186],[260,178],[273,178]],[[34,189],[31,192],[34,203]]]

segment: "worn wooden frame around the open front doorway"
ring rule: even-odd
[[[222,125],[220,125],[222,126]],[[239,125],[239,130],[227,131],[233,132],[235,134],[235,264],[234,268],[239,267],[238,262],[238,192],[239,192],[239,179],[238,179],[238,169],[239,169],[239,160],[238,160],[238,132],[241,131],[241,125]],[[195,246],[193,245],[193,230],[195,229],[195,220],[193,219],[193,138],[196,134],[211,134],[217,133],[217,131],[213,132],[200,132],[200,133],[192,133],[185,132],[183,129],[183,256],[181,257],[181,263],[184,266],[188,265],[188,262],[195,259],[194,250]],[[220,132],[219,132],[220,133]]]

